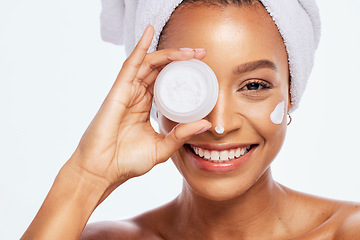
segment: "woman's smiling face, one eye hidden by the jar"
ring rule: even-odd
[[[256,182],[266,181],[269,174],[265,173],[285,138],[289,107],[286,49],[260,4],[178,8],[159,49],[183,47],[207,50],[202,61],[214,70],[220,90],[215,108],[206,117],[212,128],[194,136],[172,160],[188,186],[201,196],[232,199]],[[283,120],[275,124],[270,115],[279,103],[284,103],[280,108]],[[159,114],[162,133],[176,124]],[[215,131],[218,125],[224,127],[223,134]],[[206,156],[199,156],[201,152]],[[242,156],[233,156],[239,152]],[[209,156],[227,160],[205,159]]]

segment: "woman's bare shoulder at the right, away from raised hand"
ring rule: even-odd
[[[299,232],[294,239],[360,239],[360,203],[318,197],[286,187],[283,189],[289,193],[287,201],[292,203],[289,208],[295,210],[293,216],[298,216],[295,230]]]

